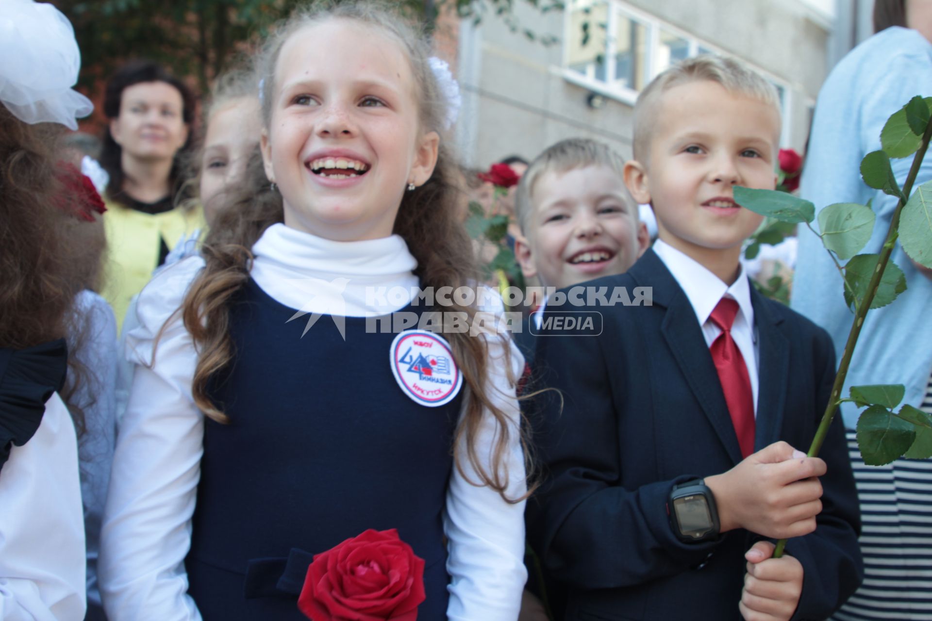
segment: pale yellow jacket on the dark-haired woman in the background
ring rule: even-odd
[[[139,293],[158,267],[160,239],[169,250],[204,229],[204,210],[175,208],[155,215],[106,201],[103,225],[107,234],[107,261],[103,273],[103,297],[113,306],[117,330],[132,296]]]

